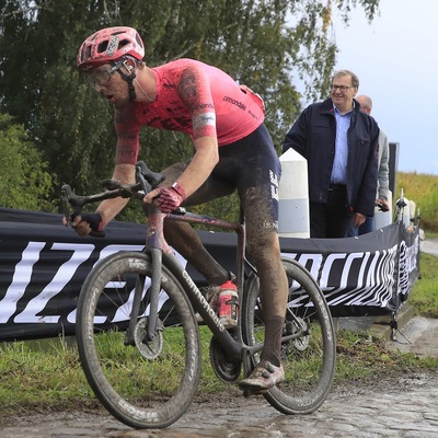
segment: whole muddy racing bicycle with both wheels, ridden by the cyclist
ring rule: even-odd
[[[142,199],[163,181],[143,162],[137,163],[136,175],[134,185],[106,181],[106,192],[89,196],[78,196],[66,185],[62,200],[79,214],[85,204],[107,198]],[[241,303],[237,327],[224,328],[180,264],[165,242],[164,220],[237,233],[235,284]],[[263,309],[257,273],[245,255],[243,221],[181,208],[165,215],[151,206],[148,222],[143,251],[114,253],[89,273],[78,300],[77,339],[88,382],[104,407],[130,427],[164,428],[187,411],[197,392],[201,344],[195,312],[212,334],[209,357],[216,376],[237,382],[242,369],[247,377],[258,361]],[[309,414],[322,405],[332,388],[334,327],[325,298],[309,272],[291,258],[283,257],[283,263],[289,279],[281,346],[286,381],[263,395],[284,414]]]

